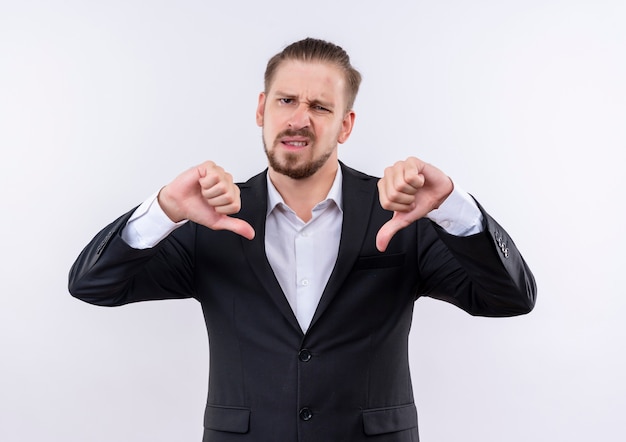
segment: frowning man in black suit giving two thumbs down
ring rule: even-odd
[[[70,272],[99,305],[196,298],[210,342],[204,442],[417,441],[408,334],[419,296],[529,312],[506,232],[410,157],[380,180],[338,161],[360,75],[305,39],[268,63],[256,113],[269,168],[208,161],[101,231]]]

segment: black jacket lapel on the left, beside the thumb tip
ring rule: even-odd
[[[250,263],[261,286],[272,298],[278,310],[287,318],[288,322],[300,333],[302,329],[298,324],[293,310],[283,293],[280,284],[276,280],[274,271],[267,260],[265,253],[265,219],[267,213],[267,171],[251,178],[240,185],[241,188],[241,211],[237,215],[250,223],[254,228],[255,237],[249,241],[241,238],[244,253]]]

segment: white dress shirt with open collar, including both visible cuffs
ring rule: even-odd
[[[269,174],[267,188],[267,259],[300,327],[306,331],[339,251],[343,219],[341,167],[337,168],[326,199],[313,208],[306,223],[285,204]],[[133,248],[154,247],[186,222],[172,222],[159,206],[157,195],[158,192],[139,206],[122,230],[122,238]],[[483,228],[483,217],[476,203],[457,186],[427,218],[457,236],[479,233]]]

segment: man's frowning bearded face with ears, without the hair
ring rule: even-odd
[[[343,73],[329,63],[284,61],[259,96],[256,120],[275,172],[303,179],[336,167],[337,143],[348,139],[354,124]]]

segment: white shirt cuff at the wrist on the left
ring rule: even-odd
[[[149,249],[187,222],[173,222],[165,214],[155,192],[137,207],[122,230],[122,239],[134,249]]]

